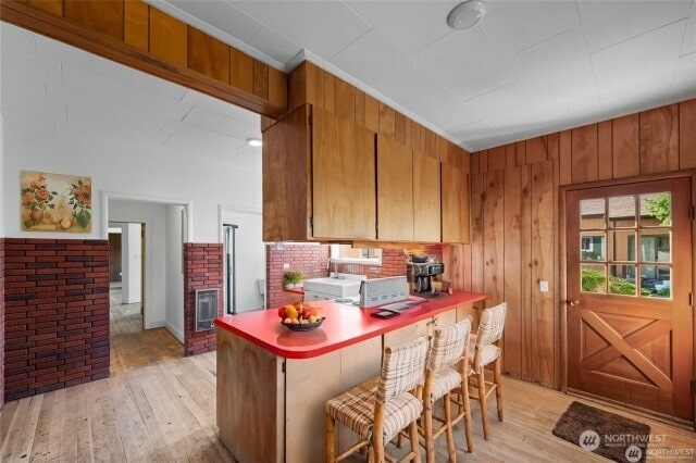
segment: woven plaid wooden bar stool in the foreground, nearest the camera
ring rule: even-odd
[[[326,402],[326,462],[339,462],[368,448],[368,460],[383,463],[396,460],[385,454],[384,446],[401,429],[409,428],[411,451],[401,461],[421,461],[418,418],[423,411],[419,399],[424,383],[430,336],[386,348],[382,374]],[[359,441],[335,455],[336,422],[355,431]]]

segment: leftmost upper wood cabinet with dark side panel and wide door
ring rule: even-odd
[[[376,239],[375,134],[309,104],[263,133],[263,239]]]

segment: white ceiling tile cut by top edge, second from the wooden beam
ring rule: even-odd
[[[232,1],[262,24],[328,59],[370,29],[338,1]]]

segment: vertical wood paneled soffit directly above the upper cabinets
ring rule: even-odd
[[[289,74],[288,88],[288,111],[313,104],[469,174],[464,149],[309,61]]]

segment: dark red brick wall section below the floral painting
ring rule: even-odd
[[[3,241],[4,399],[109,376],[109,242]]]

